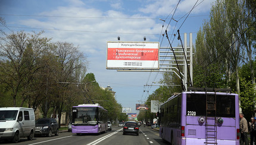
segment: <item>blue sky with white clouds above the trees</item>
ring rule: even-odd
[[[195,44],[196,33],[209,18],[214,1],[0,0],[0,17],[7,26],[0,24],[0,29],[7,34],[44,30],[43,36],[53,42],[78,46],[89,61],[87,73],[93,73],[100,86],[110,85],[117,102],[136,112],[135,105],[145,103],[159,87],[150,85],[163,85],[158,83],[163,74],[106,69],[107,42],[117,41],[118,36],[120,41],[143,41],[146,37],[148,42],[159,41],[160,47],[167,47],[168,40],[162,34],[167,30],[168,36],[173,36],[179,29],[182,39],[184,33],[192,33]],[[172,46],[178,44],[173,38]]]

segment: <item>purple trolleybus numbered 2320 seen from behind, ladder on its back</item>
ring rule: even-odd
[[[238,99],[217,89],[173,95],[160,108],[160,137],[177,145],[238,145]]]

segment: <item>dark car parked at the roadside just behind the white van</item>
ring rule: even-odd
[[[52,134],[58,136],[59,128],[58,123],[54,118],[40,118],[36,120],[35,135],[36,136],[48,136],[51,137]]]

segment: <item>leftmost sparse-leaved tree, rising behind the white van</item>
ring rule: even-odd
[[[5,43],[1,41],[0,61],[3,71],[0,73],[0,83],[11,91],[14,107],[17,106],[17,97],[27,94],[33,75],[39,70],[36,59],[48,48],[50,40],[40,38],[41,34],[26,34],[20,31],[7,36]],[[25,99],[23,98],[20,106]]]

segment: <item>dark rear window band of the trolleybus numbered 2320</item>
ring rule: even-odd
[[[186,114],[195,116],[205,116],[206,97],[214,98],[214,94],[187,94]],[[215,113],[207,112],[208,116]],[[216,116],[235,118],[235,95],[216,95]]]

